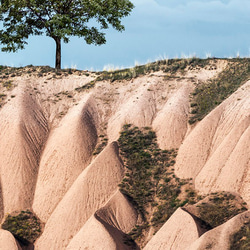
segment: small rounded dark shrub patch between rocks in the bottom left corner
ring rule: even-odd
[[[8,215],[2,228],[10,231],[23,245],[35,242],[42,233],[42,223],[29,210]]]

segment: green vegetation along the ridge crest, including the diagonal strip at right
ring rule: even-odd
[[[150,74],[156,71],[168,73],[166,79],[176,76],[176,73],[183,74],[187,70],[206,68],[208,70],[216,69],[216,60],[213,58],[187,58],[187,59],[166,59],[159,60],[145,65],[135,66],[114,71],[95,72],[96,79],[89,83],[76,88],[78,92],[93,88],[98,81],[121,81],[130,80],[145,74]],[[216,80],[208,83],[198,84],[191,102],[191,118],[190,124],[201,120],[209,111],[216,105],[221,103],[229,94],[235,91],[249,77],[250,60],[249,59],[232,59],[227,60],[229,66],[224,70]],[[52,78],[62,78],[71,74],[89,76],[89,72],[76,69],[61,69],[55,70],[49,66],[33,66],[26,67],[7,67],[0,66],[0,78],[9,78],[21,76],[23,74],[36,75],[44,77],[53,74]]]

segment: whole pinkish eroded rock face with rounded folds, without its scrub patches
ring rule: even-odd
[[[149,126],[161,149],[178,149],[173,178],[192,178],[199,194],[235,192],[250,205],[250,81],[188,123],[191,93],[227,62],[213,64],[118,81],[100,81],[93,72],[24,74],[11,78],[13,89],[0,85],[0,220],[33,211],[44,222],[34,243],[40,250],[126,250],[144,243],[147,250],[226,249],[249,212],[207,231],[178,208],[152,238],[150,231],[135,243],[128,235],[143,216],[118,186],[126,178],[116,142],[122,127]],[[20,246],[0,230],[0,249]]]

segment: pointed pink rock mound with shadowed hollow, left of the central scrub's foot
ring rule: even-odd
[[[125,233],[138,221],[138,214],[127,199],[117,191],[108,203],[97,210],[70,241],[70,249],[131,249],[124,244]]]

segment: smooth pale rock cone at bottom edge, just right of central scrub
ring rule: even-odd
[[[183,250],[202,233],[204,230],[198,221],[182,208],[178,208],[143,249]]]

